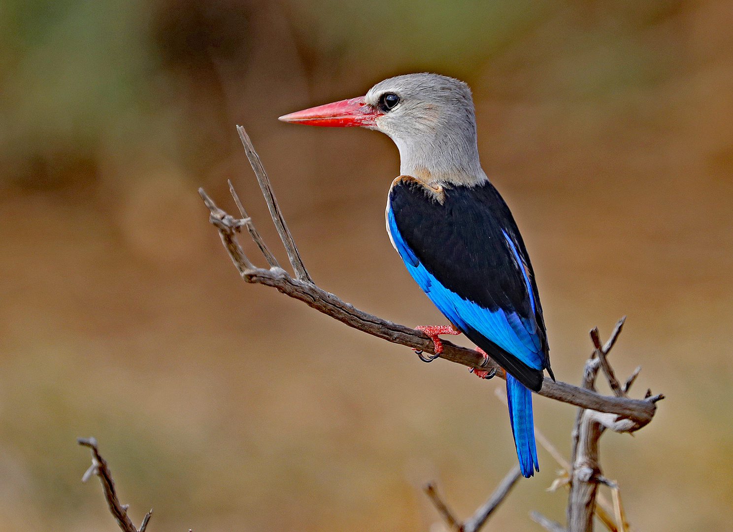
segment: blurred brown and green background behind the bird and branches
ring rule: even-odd
[[[503,381],[244,284],[196,193],[233,212],[232,179],[287,263],[243,124],[321,287],[444,322],[384,229],[391,141],[276,120],[429,70],[474,90],[557,377],[627,314],[611,362],[667,396],[601,440],[628,520],[733,530],[732,28],[725,0],[2,2],[0,529],[117,530],[89,435],[156,532],[440,532],[430,479],[482,503],[516,462]],[[568,456],[575,409],[534,404]],[[539,460],[488,531],[564,522]]]

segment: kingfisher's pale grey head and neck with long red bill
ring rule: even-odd
[[[471,89],[438,74],[398,75],[367,95],[286,114],[283,122],[381,131],[397,144],[400,172],[424,182],[485,182]]]

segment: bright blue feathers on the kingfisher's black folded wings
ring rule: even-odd
[[[515,355],[523,363],[534,369],[542,369],[542,348],[536,333],[537,324],[534,320],[523,319],[515,312],[505,312],[502,309],[490,311],[473,301],[461,298],[443,287],[438,279],[432,276],[421,264],[417,256],[405,243],[405,240],[402,239],[391,208],[387,210],[387,230],[394,248],[397,249],[402,261],[405,262],[410,275],[446,318],[459,328],[468,326],[477,330],[502,349]],[[511,242],[510,245],[512,245]],[[516,253],[513,245],[512,251]],[[524,271],[522,273],[528,283],[526,273]],[[531,294],[531,286],[529,288]],[[532,298],[531,306],[534,310],[534,298],[532,295],[530,295],[530,298]]]

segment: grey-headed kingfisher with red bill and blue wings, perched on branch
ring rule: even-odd
[[[279,119],[360,126],[397,145],[400,175],[388,192],[387,232],[410,275],[450,322],[418,328],[435,344],[433,358],[442,351],[439,335],[463,333],[485,363],[490,356],[504,369],[520,470],[533,476],[539,462],[531,392],[542,388],[543,370],[555,377],[527,249],[479,161],[468,84],[435,73],[398,75],[364,96]]]

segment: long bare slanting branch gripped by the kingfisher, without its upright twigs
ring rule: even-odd
[[[428,353],[435,353],[435,346],[432,340],[423,332],[405,327],[386,319],[368,314],[356,309],[349,303],[337,298],[330,292],[320,289],[311,282],[298,281],[292,278],[281,268],[254,267],[248,261],[241,246],[237,243],[236,228],[240,221],[226,214],[219,209],[209,196],[199,189],[199,194],[210,210],[210,221],[219,230],[221,240],[226,251],[237,266],[242,278],[248,283],[264,284],[268,287],[275,287],[285,295],[303,301],[317,311],[328,314],[334,319],[349,325],[365,333],[377,336],[377,338],[391,341],[393,344],[402,344],[414,350],[423,350]],[[467,347],[460,347],[450,341],[443,340],[443,352],[441,358],[454,363],[460,363],[469,368],[490,370],[501,368],[493,361],[485,363],[483,355]],[[497,376],[504,378],[503,372],[498,371]],[[578,407],[591,408],[600,412],[608,412],[624,415],[638,424],[644,426],[652,421],[655,414],[655,404],[641,399],[630,399],[624,397],[611,397],[596,394],[593,391],[583,390],[572,384],[561,381],[545,379],[539,395],[556,399],[557,401],[574,404]]]

